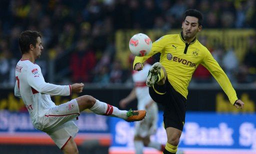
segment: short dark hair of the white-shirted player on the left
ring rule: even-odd
[[[25,30],[20,33],[18,37],[18,44],[21,54],[24,54],[29,51],[30,44],[32,44],[35,47],[37,37],[41,38],[41,34],[38,31]]]

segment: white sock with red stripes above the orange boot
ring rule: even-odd
[[[98,99],[96,99],[95,104],[89,109],[96,114],[109,115],[109,116],[120,117],[122,119],[127,119],[127,116],[126,116],[127,110],[120,110],[117,107],[109,105],[105,102],[99,101]]]

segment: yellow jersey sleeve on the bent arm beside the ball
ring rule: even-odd
[[[152,43],[152,48],[151,48],[150,52],[147,55],[145,55],[145,56],[135,56],[135,59],[133,61],[133,69],[134,69],[134,66],[135,66],[136,63],[141,63],[141,65],[142,65],[142,63],[145,62],[146,59],[148,59],[149,57],[151,57],[155,53],[162,52],[162,50],[164,48],[164,45],[165,45],[164,37],[165,36],[162,36],[162,37],[160,37],[159,39],[157,39],[156,41],[154,41]]]

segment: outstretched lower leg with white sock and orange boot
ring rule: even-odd
[[[83,95],[76,98],[79,110],[88,108],[96,114],[109,115],[122,118],[126,121],[139,121],[145,117],[145,110],[120,110],[115,106],[99,101],[90,95]]]

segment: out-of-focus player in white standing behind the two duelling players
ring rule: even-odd
[[[137,98],[137,108],[146,109],[146,117],[135,122],[134,147],[136,154],[143,153],[143,146],[154,147],[160,151],[164,150],[164,145],[156,141],[150,141],[150,135],[156,132],[158,120],[157,104],[150,97],[145,82],[150,67],[150,64],[144,63],[141,71],[132,71],[134,87],[129,95],[119,102],[120,107],[124,108],[129,102]]]

